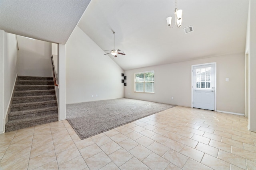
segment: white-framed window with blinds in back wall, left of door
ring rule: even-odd
[[[154,93],[154,71],[135,73],[135,92]]]

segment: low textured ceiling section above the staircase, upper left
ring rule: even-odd
[[[66,44],[90,0],[0,0],[0,29]]]

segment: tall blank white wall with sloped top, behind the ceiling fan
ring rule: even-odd
[[[66,43],[66,104],[124,97],[124,71],[103,54],[78,26],[74,29]]]

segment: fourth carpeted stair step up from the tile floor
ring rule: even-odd
[[[43,102],[48,100],[56,100],[55,94],[44,96],[22,96],[12,98],[12,104],[30,103],[30,102]]]

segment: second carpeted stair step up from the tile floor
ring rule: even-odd
[[[31,110],[22,110],[22,111],[13,111],[8,114],[8,121],[13,121],[16,119],[24,119],[28,117],[36,117],[40,115],[48,114],[58,114],[58,107],[46,107],[41,109],[31,109]]]

